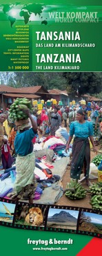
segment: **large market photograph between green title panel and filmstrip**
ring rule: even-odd
[[[0,131],[1,198],[102,210],[101,72],[0,72]]]

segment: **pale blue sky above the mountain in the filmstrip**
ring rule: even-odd
[[[48,217],[52,217],[55,213],[59,213],[61,211],[64,211],[64,212],[69,212],[74,218],[78,218],[78,214],[79,214],[79,211],[75,211],[75,210],[65,210],[65,209],[54,209],[54,208],[50,208],[49,209],[49,212],[48,212]]]

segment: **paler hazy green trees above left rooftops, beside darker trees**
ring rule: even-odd
[[[1,84],[14,87],[28,87],[42,85],[45,89],[65,90],[67,80],[63,73],[49,72],[1,72]]]

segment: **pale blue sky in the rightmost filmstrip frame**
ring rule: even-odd
[[[93,223],[98,223],[102,225],[102,215],[101,214],[96,214],[92,212],[84,212],[85,216],[91,218],[91,222]]]

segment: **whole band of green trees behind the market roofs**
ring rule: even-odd
[[[14,87],[42,85],[45,89],[68,90],[68,94],[99,95],[102,72],[0,72],[0,84]],[[97,95],[97,97],[98,97]]]

